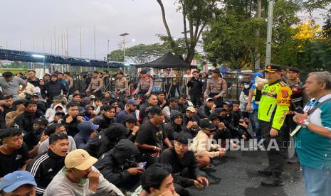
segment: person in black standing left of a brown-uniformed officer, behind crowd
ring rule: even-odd
[[[202,87],[204,87],[204,79],[199,77],[199,71],[194,70],[192,73],[193,77],[187,82],[189,87],[189,95],[191,96],[191,102],[194,106],[201,106],[202,101]]]

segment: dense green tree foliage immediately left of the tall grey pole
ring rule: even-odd
[[[265,50],[266,21],[252,18],[253,1],[226,1],[203,34],[204,51],[212,62],[223,62],[233,69],[251,67],[257,53]],[[256,36],[257,30],[260,37]]]

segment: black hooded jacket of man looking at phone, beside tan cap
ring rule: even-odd
[[[130,177],[128,168],[135,168],[137,162],[132,156],[139,153],[137,147],[128,139],[121,139],[112,150],[104,153],[97,163],[97,168],[100,173],[112,184],[119,185],[125,183]]]

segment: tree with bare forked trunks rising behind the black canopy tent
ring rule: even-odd
[[[196,53],[196,45],[199,42],[202,31],[213,18],[214,12],[221,1],[217,0],[176,0],[178,11],[182,11],[184,38],[174,40],[169,30],[166,13],[162,0],[157,0],[162,12],[162,21],[167,35],[160,36],[165,44],[169,45],[175,55],[185,55],[184,60],[190,63]],[[187,36],[189,34],[189,36]]]

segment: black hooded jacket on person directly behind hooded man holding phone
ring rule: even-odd
[[[126,138],[127,128],[120,123],[113,123],[103,131],[100,138],[100,147],[98,151],[98,157],[103,153],[110,151],[117,144],[120,139]]]

